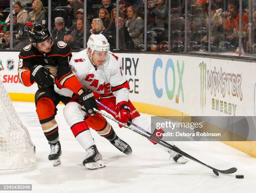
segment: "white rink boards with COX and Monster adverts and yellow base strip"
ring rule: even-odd
[[[157,116],[255,117],[255,61],[174,54],[116,55],[130,84],[130,99],[140,112]],[[20,84],[18,60],[18,52],[1,52],[1,81],[13,101],[33,102],[37,86]],[[225,143],[256,157],[255,142]]]

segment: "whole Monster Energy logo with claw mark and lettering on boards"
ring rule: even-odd
[[[226,96],[232,96],[243,100],[243,93],[241,89],[242,77],[241,74],[227,73],[222,70],[206,70],[206,63],[201,62],[200,68],[200,105],[202,113],[206,104],[206,91],[210,91],[210,94],[214,97],[211,99],[211,109],[225,113],[236,114],[237,104],[231,103],[231,101],[223,100]],[[207,80],[207,82],[206,82]],[[207,88],[207,89],[206,89]],[[215,97],[221,97],[218,99]]]

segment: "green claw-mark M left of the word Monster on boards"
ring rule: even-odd
[[[206,102],[206,63],[201,62],[199,64],[200,68],[200,104],[202,112],[204,112],[205,102]]]

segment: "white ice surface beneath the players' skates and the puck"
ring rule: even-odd
[[[56,120],[62,147],[61,165],[48,160],[49,145],[41,130],[35,104],[14,102],[15,109],[36,145],[36,170],[0,175],[0,184],[32,184],[35,193],[255,193],[256,159],[221,142],[175,142],[185,152],[214,168],[238,168],[234,174],[219,177],[212,170],[190,160],[172,163],[169,155],[140,135],[120,129],[111,122],[118,136],[133,148],[132,155],[119,152],[92,130],[106,167],[87,170],[82,161],[85,151],[75,140],[58,106]],[[142,114],[150,118],[150,115]],[[244,179],[236,179],[236,174]],[[11,191],[9,191],[11,192]],[[23,191],[24,192],[24,191]]]

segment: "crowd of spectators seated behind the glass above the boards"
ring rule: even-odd
[[[147,48],[144,48],[145,0],[119,0],[118,10],[116,1],[113,0],[87,0],[87,39],[91,34],[102,33],[110,42],[110,48],[115,49],[116,28],[118,28],[120,50],[166,51],[169,49],[182,52],[187,41],[187,51],[208,51],[209,40],[212,52],[237,50],[239,0],[211,0],[210,10],[208,10],[209,0],[187,0],[187,29],[185,29],[185,0],[170,2],[169,13],[168,0],[147,1]],[[27,31],[32,25],[36,23],[48,25],[47,3],[48,0],[19,0],[13,3],[13,48],[20,49],[29,43]],[[256,0],[253,0],[251,26],[248,0],[243,0],[242,7],[242,48],[246,53],[256,53]],[[10,46],[10,14],[8,14],[10,9],[3,7],[2,9],[0,49],[6,49]],[[52,1],[51,20],[52,38],[65,41],[75,50],[83,48],[83,0]],[[249,33],[251,36],[248,35]]]

